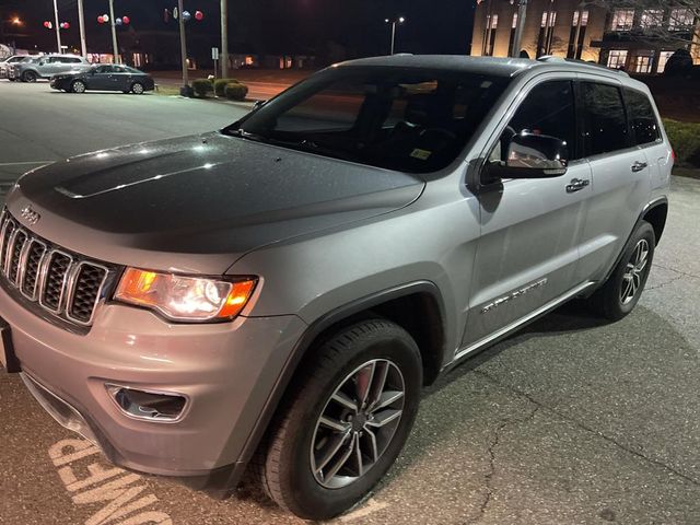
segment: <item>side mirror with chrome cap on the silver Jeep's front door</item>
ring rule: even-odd
[[[489,178],[552,178],[567,173],[569,145],[547,135],[514,135],[505,162],[488,166]]]

